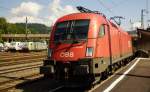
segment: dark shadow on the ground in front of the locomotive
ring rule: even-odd
[[[16,86],[13,92],[85,92],[86,90],[84,87],[63,87],[58,91],[53,90],[61,85],[63,83],[56,82],[52,79],[41,78],[35,81],[21,83]]]

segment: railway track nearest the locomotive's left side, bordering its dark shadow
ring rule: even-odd
[[[16,85],[41,78],[39,67],[42,62],[24,64],[11,68],[0,69],[0,92],[11,89]]]

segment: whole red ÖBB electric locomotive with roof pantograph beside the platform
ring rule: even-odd
[[[103,14],[78,9],[81,13],[56,21],[40,72],[57,80],[96,83],[133,55],[131,37]]]

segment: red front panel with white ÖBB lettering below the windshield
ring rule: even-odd
[[[76,44],[62,44],[58,48],[54,49],[53,58],[57,61],[78,61],[85,57],[86,42],[80,42]]]

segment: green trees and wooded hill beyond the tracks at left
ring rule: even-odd
[[[50,27],[43,24],[30,23],[27,25],[27,33],[30,34],[47,34]],[[25,23],[7,23],[5,18],[0,17],[0,34],[25,34]]]

